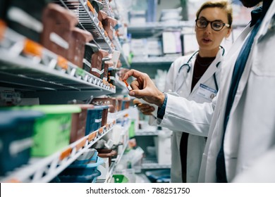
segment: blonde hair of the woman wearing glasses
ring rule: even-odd
[[[227,18],[228,18],[228,24],[231,26],[232,25],[232,20],[233,20],[233,11],[232,11],[232,6],[228,1],[207,1],[202,6],[200,6],[199,10],[196,13],[196,17],[199,18],[200,13],[202,10],[205,8],[221,8],[222,10],[226,11],[227,13]]]

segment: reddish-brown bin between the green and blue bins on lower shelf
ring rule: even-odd
[[[87,111],[88,109],[93,109],[93,105],[76,105],[81,108],[80,113],[74,113],[72,119],[72,127],[71,127],[71,136],[70,143],[73,141],[77,141],[78,139],[85,136],[86,133],[86,124],[87,124]]]

